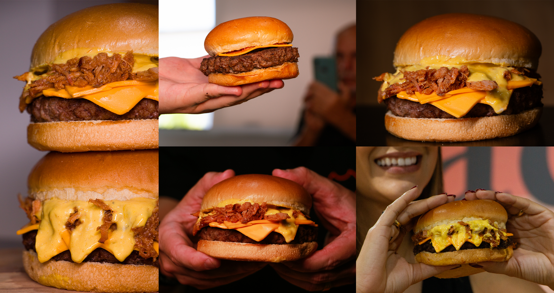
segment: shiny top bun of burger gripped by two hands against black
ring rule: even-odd
[[[216,207],[225,199],[242,199],[248,202],[266,202],[279,207],[310,213],[311,196],[306,189],[289,179],[246,174],[234,176],[212,186],[202,200],[201,210]]]

